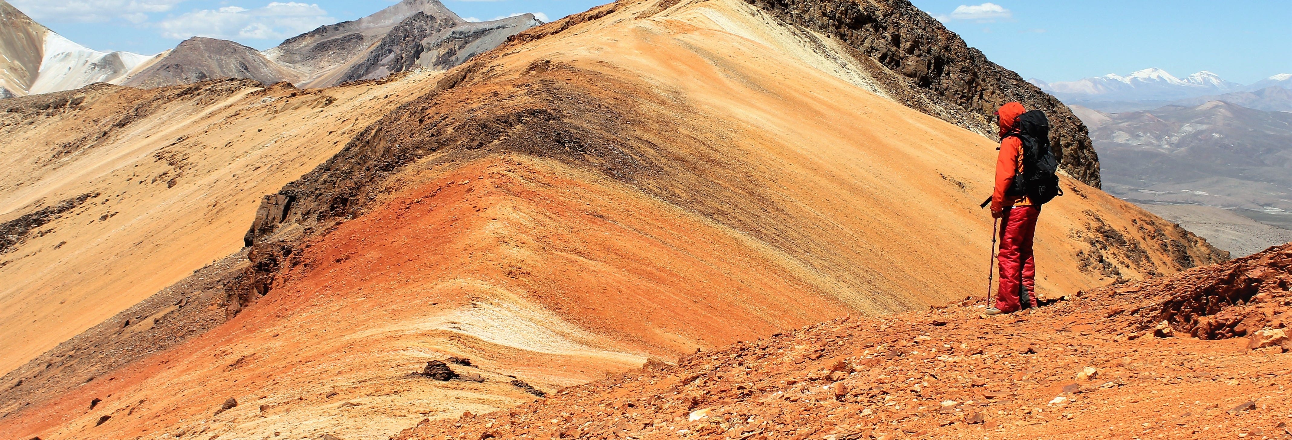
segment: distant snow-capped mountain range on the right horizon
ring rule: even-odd
[[[1227,101],[1220,95],[1230,93],[1257,93],[1262,89],[1280,88],[1292,89],[1292,74],[1279,74],[1253,84],[1242,85],[1226,81],[1216,74],[1202,71],[1183,79],[1172,76],[1160,68],[1145,68],[1127,76],[1109,74],[1098,77],[1087,77],[1076,81],[1045,83],[1039,79],[1030,79],[1030,83],[1049,92],[1067,105],[1080,105],[1101,111],[1138,111],[1156,108],[1171,103],[1202,103],[1205,101]],[[1262,92],[1266,95],[1275,95],[1278,92]],[[1199,97],[1209,97],[1205,101],[1182,101]],[[1231,99],[1260,99],[1261,97],[1229,97]],[[1292,102],[1288,102],[1292,105]],[[1266,108],[1282,108],[1283,103],[1264,106]]]

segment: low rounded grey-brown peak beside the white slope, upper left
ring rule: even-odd
[[[195,36],[180,43],[174,50],[132,76],[124,85],[150,89],[220,77],[270,84],[297,79],[297,74],[275,65],[256,49],[227,40]]]

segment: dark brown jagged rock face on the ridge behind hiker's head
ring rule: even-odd
[[[1085,125],[1057,98],[969,48],[907,0],[745,0],[771,15],[839,39],[877,63],[885,92],[911,108],[994,135],[992,112],[1018,101],[1045,111],[1061,168],[1099,187],[1099,159]]]

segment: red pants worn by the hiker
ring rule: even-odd
[[[1028,305],[1036,307],[1036,259],[1032,257],[1032,236],[1040,206],[1005,208],[1000,217],[1000,288],[996,289],[996,308],[1012,312],[1022,308],[1019,290],[1026,290]]]

